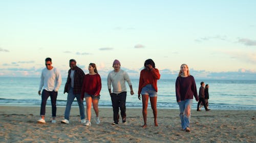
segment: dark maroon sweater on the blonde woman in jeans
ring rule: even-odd
[[[198,101],[197,86],[192,75],[187,77],[178,76],[176,79],[176,99],[183,101],[186,99],[193,99],[193,95]]]

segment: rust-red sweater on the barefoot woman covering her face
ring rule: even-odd
[[[143,69],[140,71],[140,82],[139,82],[139,90],[138,95],[143,87],[147,84],[152,84],[153,88],[157,92],[157,80],[160,79],[160,73],[158,69],[153,68],[151,71]]]

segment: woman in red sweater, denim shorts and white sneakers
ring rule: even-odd
[[[87,107],[87,122],[84,124],[86,126],[91,126],[91,107],[93,103],[93,109],[96,114],[96,124],[100,123],[99,120],[99,109],[98,103],[100,98],[100,90],[101,90],[101,78],[98,74],[96,65],[93,63],[89,64],[88,67],[89,74],[84,75],[83,83],[82,83],[82,93],[81,100],[86,98],[86,107]]]

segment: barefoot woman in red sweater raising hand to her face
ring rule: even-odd
[[[148,59],[144,63],[144,69],[140,72],[138,98],[142,95],[142,114],[144,125],[146,128],[146,117],[147,117],[147,104],[148,97],[150,97],[151,108],[153,110],[155,126],[157,124],[157,80],[160,79],[158,69],[155,68],[155,63],[152,59]]]

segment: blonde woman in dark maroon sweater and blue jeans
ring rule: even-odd
[[[180,107],[181,127],[186,132],[190,131],[189,124],[193,96],[196,98],[196,101],[199,100],[195,79],[189,74],[188,66],[182,64],[176,79],[176,99]]]

